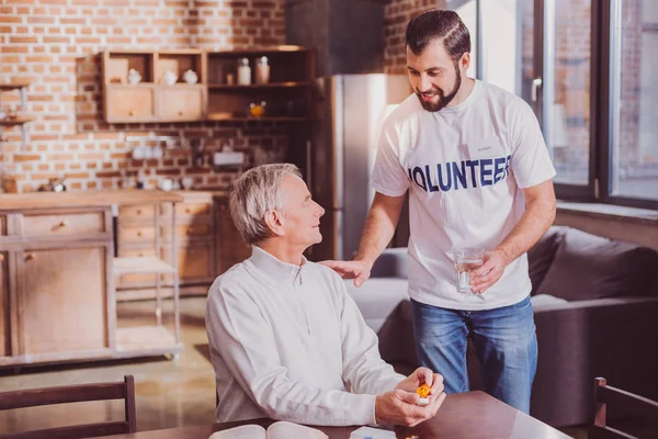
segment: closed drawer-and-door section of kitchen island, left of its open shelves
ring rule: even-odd
[[[0,215],[0,365],[111,354],[110,206]]]

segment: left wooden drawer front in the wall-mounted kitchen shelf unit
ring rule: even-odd
[[[150,122],[156,117],[152,88],[112,86],[106,90],[107,122]]]

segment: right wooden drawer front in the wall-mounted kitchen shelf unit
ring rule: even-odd
[[[204,113],[202,87],[177,86],[160,90],[161,121],[200,121]]]

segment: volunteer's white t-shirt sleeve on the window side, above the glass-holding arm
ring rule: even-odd
[[[519,188],[531,188],[555,177],[542,130],[530,105],[520,102],[512,132],[511,167]]]

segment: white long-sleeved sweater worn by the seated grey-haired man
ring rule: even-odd
[[[257,246],[211,286],[206,329],[218,423],[373,425],[375,396],[406,378],[379,357],[377,336],[338,274]]]

